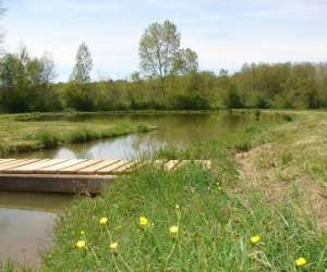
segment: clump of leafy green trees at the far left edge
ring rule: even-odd
[[[24,47],[19,53],[7,53],[0,61],[0,108],[8,112],[59,110],[53,78],[48,55],[32,59]]]

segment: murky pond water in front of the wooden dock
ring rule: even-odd
[[[71,200],[62,195],[1,191],[0,262],[39,264],[39,252],[51,245],[53,219]]]

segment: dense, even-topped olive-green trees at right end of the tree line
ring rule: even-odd
[[[242,103],[257,108],[326,107],[326,63],[244,64],[233,77]]]

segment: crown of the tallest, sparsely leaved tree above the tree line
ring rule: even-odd
[[[164,24],[149,25],[140,41],[138,54],[144,74],[165,78],[175,66],[180,52],[181,35],[177,26],[165,21]]]

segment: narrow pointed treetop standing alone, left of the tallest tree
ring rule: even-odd
[[[90,52],[85,42],[77,49],[76,64],[71,75],[71,81],[80,85],[85,85],[90,82],[90,72],[93,69],[93,60]]]

